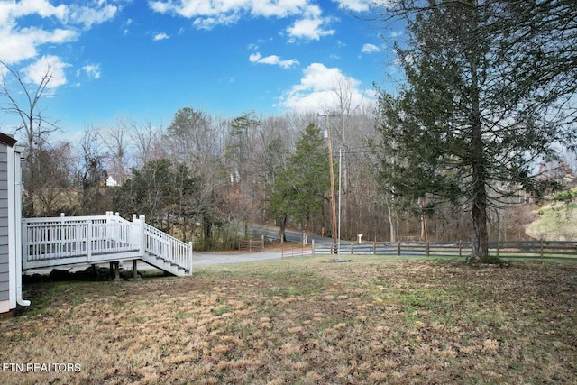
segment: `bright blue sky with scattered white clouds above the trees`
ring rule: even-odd
[[[0,0],[0,60],[31,89],[50,63],[46,114],[65,133],[119,117],[166,126],[186,106],[225,117],[323,112],[338,85],[354,105],[370,103],[372,82],[393,71],[382,36],[400,31],[352,15],[374,15],[371,3]],[[0,130],[15,122],[0,115]]]

